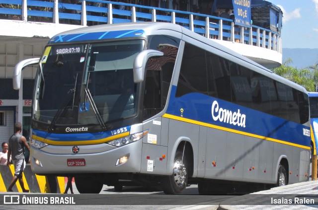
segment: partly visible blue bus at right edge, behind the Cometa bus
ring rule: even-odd
[[[311,124],[311,157],[317,154],[318,140],[318,92],[308,92],[310,104],[310,124]],[[312,162],[312,161],[311,161]]]

